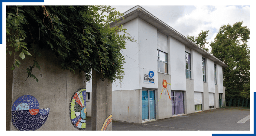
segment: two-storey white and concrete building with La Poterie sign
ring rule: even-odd
[[[227,67],[222,61],[141,6],[124,17],[111,26],[122,23],[137,43],[127,42],[122,85],[112,84],[114,120],[142,123],[219,108],[219,98],[225,98],[222,68]],[[91,82],[86,91],[91,116]]]

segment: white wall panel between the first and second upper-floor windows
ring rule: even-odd
[[[170,74],[171,89],[186,90],[186,64],[185,64],[185,45],[176,39],[168,36],[168,44],[170,44]]]

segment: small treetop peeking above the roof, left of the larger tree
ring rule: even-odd
[[[205,44],[209,44],[209,42],[206,42],[208,32],[209,30],[207,31],[202,30],[202,32],[200,32],[196,38],[194,36],[189,36],[189,35],[187,35],[187,38],[193,41],[198,46],[202,47],[207,52],[209,52],[209,49],[205,47]]]

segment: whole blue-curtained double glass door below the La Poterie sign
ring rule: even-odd
[[[142,90],[142,120],[155,118],[155,90]]]

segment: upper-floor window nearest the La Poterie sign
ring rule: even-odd
[[[167,53],[157,50],[157,71],[168,73]]]

